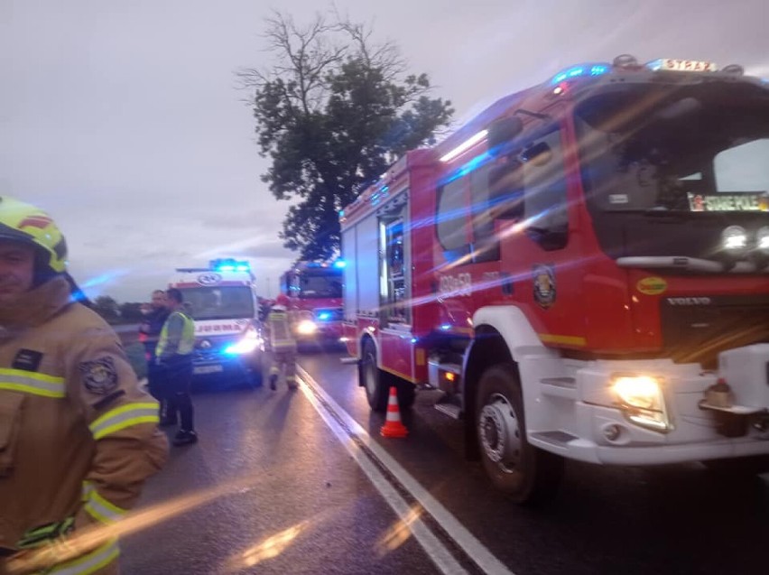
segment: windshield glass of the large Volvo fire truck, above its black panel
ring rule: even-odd
[[[575,116],[596,211],[769,210],[769,90],[625,86]]]

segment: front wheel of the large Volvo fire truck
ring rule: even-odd
[[[550,499],[563,477],[563,459],[526,440],[523,394],[514,366],[486,369],[476,406],[478,446],[491,482],[521,505]]]

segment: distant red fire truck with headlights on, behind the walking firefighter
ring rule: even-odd
[[[338,344],[342,336],[344,262],[297,262],[281,276],[294,337],[301,343]]]

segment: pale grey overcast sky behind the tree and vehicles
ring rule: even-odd
[[[769,77],[767,0],[338,0],[397,43],[462,122],[581,61],[632,53]],[[146,301],[174,267],[251,260],[264,295],[295,256],[288,204],[234,72],[269,64],[271,7],[310,0],[0,0],[0,194],[48,210],[91,296]]]

